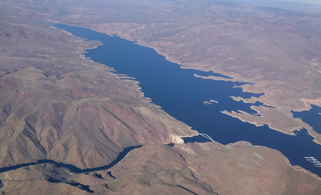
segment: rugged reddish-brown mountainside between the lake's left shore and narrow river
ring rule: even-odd
[[[80,54],[98,41],[31,23],[1,23],[0,167],[43,158],[98,167],[128,146],[195,135],[135,81]]]

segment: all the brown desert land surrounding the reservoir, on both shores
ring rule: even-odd
[[[39,164],[0,173],[2,194],[321,193],[319,177],[273,149],[165,145],[197,132],[152,104],[137,82],[85,58],[84,49],[99,41],[39,21],[118,33],[184,68],[254,83],[243,90],[264,92],[256,101],[276,108],[253,108],[266,121],[244,112],[248,119],[234,117],[288,134],[305,125],[291,110],[320,105],[321,20],[313,14],[220,1],[1,1],[0,168],[39,159],[99,167],[144,145],[98,172]]]

